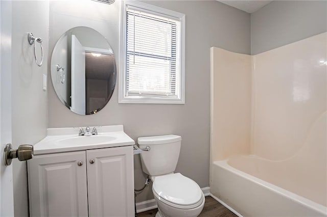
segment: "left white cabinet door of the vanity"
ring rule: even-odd
[[[28,161],[30,216],[88,215],[85,157],[85,151],[79,151]]]

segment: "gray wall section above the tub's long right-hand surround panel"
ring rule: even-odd
[[[327,31],[327,1],[274,1],[251,14],[251,54]]]

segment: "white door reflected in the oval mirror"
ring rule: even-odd
[[[75,35],[72,35],[72,108],[85,115],[85,50]]]

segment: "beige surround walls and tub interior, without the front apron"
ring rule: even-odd
[[[250,158],[258,158],[257,161],[263,163],[240,161],[233,165],[228,161],[228,164],[327,206],[326,48],[327,33],[322,33],[252,56],[251,70],[244,65],[245,55],[215,47],[211,49],[214,62],[212,163],[232,159],[232,155],[252,155]],[[238,84],[235,73],[249,72],[252,79],[243,79],[241,85]],[[216,78],[230,80],[231,86],[221,85]],[[244,86],[251,86],[251,92],[240,91]],[[221,93],[216,94],[217,90]],[[230,94],[232,90],[234,95]],[[249,93],[251,103],[240,100],[242,97],[249,99]],[[229,96],[235,100],[226,101]],[[249,108],[250,121],[235,119],[238,113]],[[226,131],[234,131],[234,137]],[[214,180],[217,175],[211,174],[211,177],[211,191],[221,198]]]

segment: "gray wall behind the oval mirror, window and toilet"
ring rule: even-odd
[[[103,110],[95,115],[80,116],[61,104],[49,79],[49,127],[123,124],[126,133],[134,140],[147,135],[181,135],[182,146],[176,171],[205,187],[209,185],[209,48],[217,46],[249,54],[250,14],[217,1],[147,3],[186,15],[185,104],[119,104],[116,88]],[[85,4],[87,7],[80,5],[79,10],[73,10],[76,4],[50,3],[50,52],[64,31],[82,23],[105,36],[118,58],[120,1],[110,6],[93,1]],[[134,164],[135,187],[140,188],[145,176],[139,156],[135,156]],[[152,198],[151,187],[148,187],[137,196],[136,201]]]

